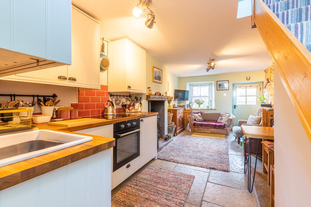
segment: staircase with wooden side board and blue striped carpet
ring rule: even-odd
[[[254,0],[252,23],[311,141],[311,0]]]

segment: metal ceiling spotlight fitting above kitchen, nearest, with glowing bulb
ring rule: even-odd
[[[153,11],[151,11],[151,9],[149,8],[151,4],[152,0],[139,0],[137,6],[133,8],[133,16],[135,16],[135,18],[137,19],[142,16],[145,7],[150,11],[150,13],[147,15],[147,20],[145,22],[146,26],[150,29],[153,27],[154,23],[156,23],[155,22],[156,16],[154,15]]]

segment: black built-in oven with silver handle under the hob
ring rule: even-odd
[[[140,155],[140,120],[114,124],[113,172]],[[130,167],[130,166],[128,166]]]

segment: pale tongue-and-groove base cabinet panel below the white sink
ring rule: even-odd
[[[0,191],[0,206],[111,206],[110,149]]]

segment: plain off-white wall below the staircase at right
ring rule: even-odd
[[[311,142],[277,70],[274,78],[275,206],[310,206]]]

